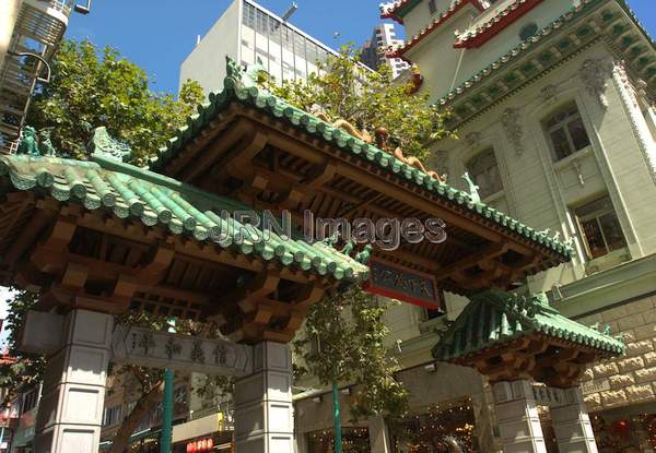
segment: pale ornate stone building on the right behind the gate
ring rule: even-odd
[[[468,171],[484,203],[576,249],[571,263],[517,282],[517,291],[547,291],[563,314],[624,335],[628,355],[594,366],[582,383],[599,451],[653,452],[652,38],[621,0],[400,0],[382,9],[406,27],[407,43],[395,56],[417,63],[421,90],[453,111],[460,140],[434,143],[432,166],[462,189]],[[443,317],[409,305],[390,308],[388,341],[412,394],[411,415],[401,430],[382,420],[359,425],[367,428],[372,451],[435,451],[429,438],[447,431],[469,436],[473,451],[499,448],[488,384],[472,370],[431,357],[436,331],[466,303],[446,294]],[[469,408],[471,434],[468,421],[455,416],[462,408]],[[326,444],[330,436],[329,395],[302,397],[296,410],[298,450],[326,451],[317,439]],[[543,417],[549,433],[548,410]],[[435,428],[440,424],[444,429]],[[558,451],[546,440],[548,451]]]

